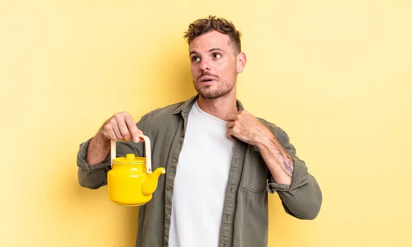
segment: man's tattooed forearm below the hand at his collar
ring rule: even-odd
[[[260,141],[257,146],[275,183],[290,185],[294,168],[293,159],[279,141],[272,133],[268,133],[268,138]]]

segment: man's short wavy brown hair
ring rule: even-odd
[[[187,38],[187,43],[190,44],[194,38],[212,30],[216,30],[220,34],[227,34],[229,36],[229,45],[233,48],[235,55],[240,54],[240,51],[242,51],[240,47],[240,37],[242,34],[236,30],[235,25],[231,21],[223,18],[209,16],[207,19],[198,19],[189,25],[189,29],[183,37]]]

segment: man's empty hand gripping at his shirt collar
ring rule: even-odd
[[[260,141],[268,139],[271,131],[264,126],[259,119],[251,115],[247,110],[241,110],[236,114],[227,116],[226,134],[232,141],[235,137],[240,141],[257,145]]]

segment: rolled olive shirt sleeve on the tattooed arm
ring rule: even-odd
[[[293,159],[294,170],[290,185],[275,183],[269,172],[267,191],[277,191],[286,213],[299,219],[313,220],[319,214],[322,203],[322,193],[317,180],[308,173],[306,163],[296,156],[295,147],[290,143],[288,134],[279,128],[275,136]]]

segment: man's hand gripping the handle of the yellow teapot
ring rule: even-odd
[[[143,132],[136,127],[135,120],[126,112],[113,115],[103,124],[99,132],[107,139],[119,141],[130,141],[133,139],[135,143],[144,141],[139,138],[139,134],[143,134]]]

